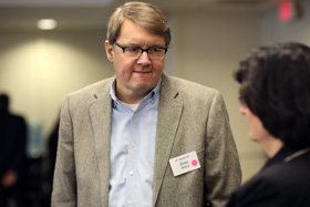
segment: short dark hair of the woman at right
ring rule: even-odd
[[[310,48],[288,42],[251,51],[235,73],[240,101],[286,145],[310,146]]]

